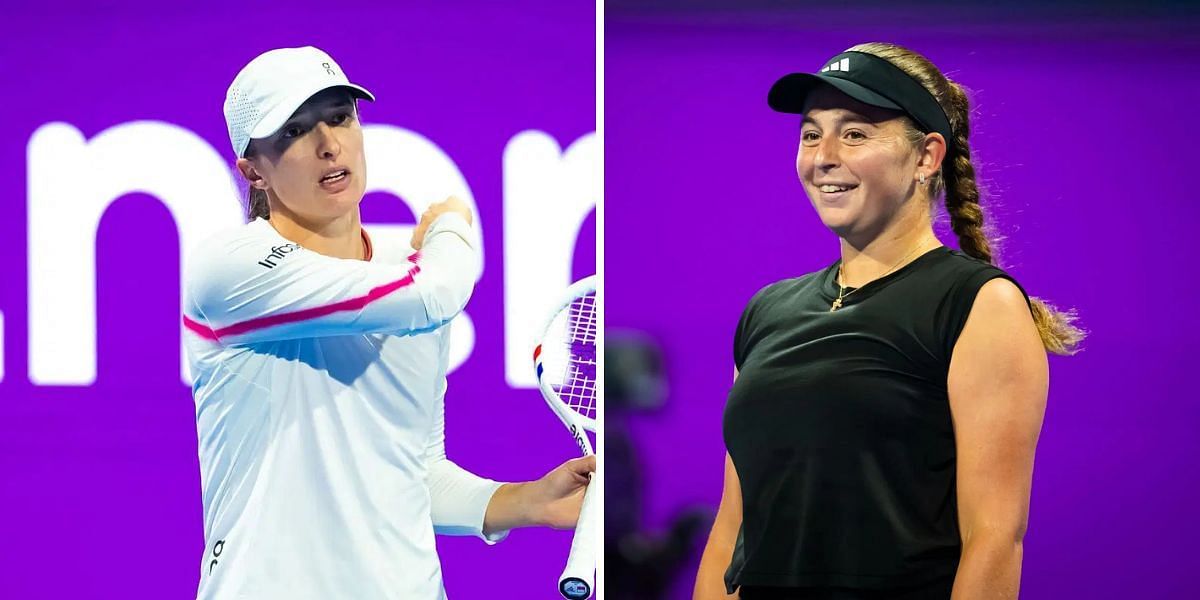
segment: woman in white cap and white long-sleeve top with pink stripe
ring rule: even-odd
[[[311,47],[256,58],[226,98],[257,218],[185,275],[200,599],[442,599],[434,533],[574,527],[595,468],[500,484],[446,458],[445,325],[479,238],[454,198],[409,245],[368,236],[359,98],[374,100]]]

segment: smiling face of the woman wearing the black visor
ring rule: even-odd
[[[918,152],[894,110],[829,85],[805,103],[796,172],[821,221],[841,238],[874,239],[916,190]]]

